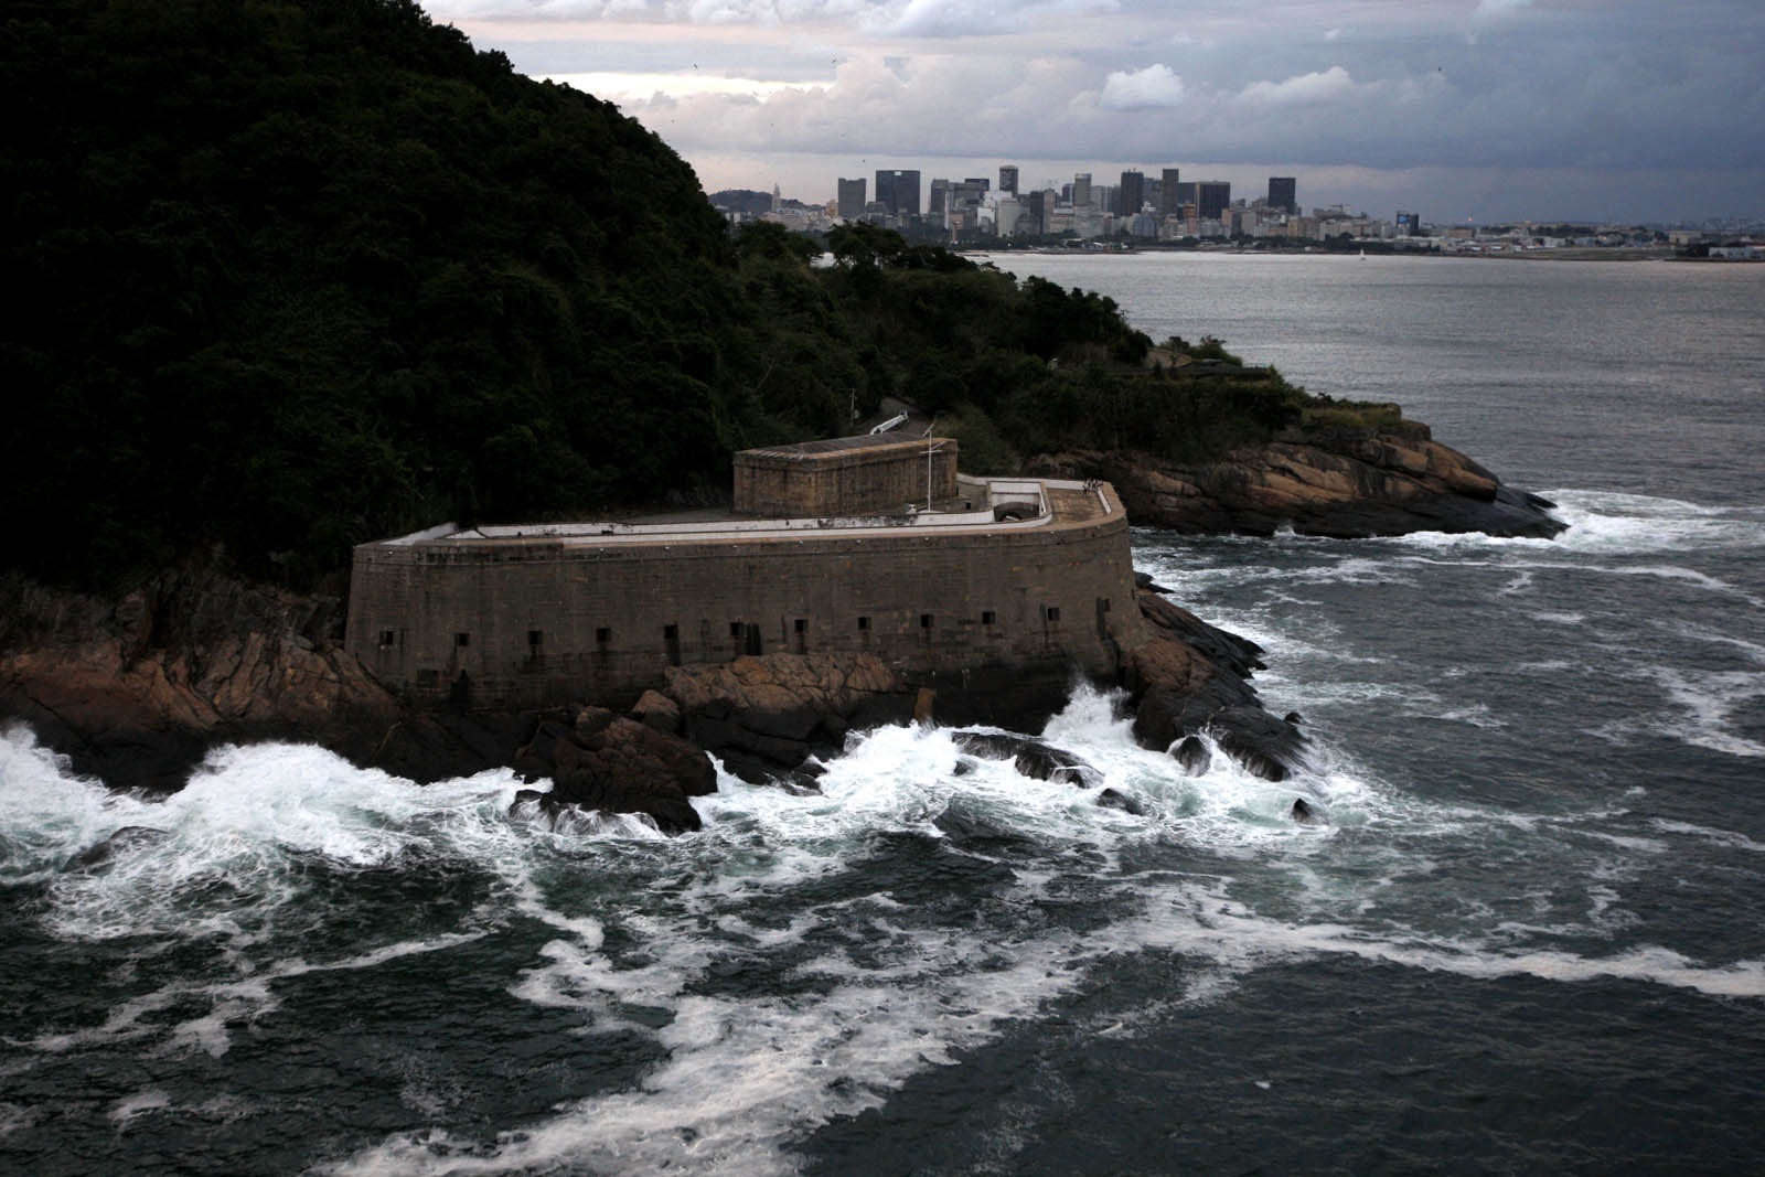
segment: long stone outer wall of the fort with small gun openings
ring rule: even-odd
[[[923,461],[923,459],[921,459]],[[362,545],[348,648],[383,681],[475,704],[660,686],[676,663],[870,651],[909,676],[1115,671],[1133,618],[1126,519],[969,535]]]

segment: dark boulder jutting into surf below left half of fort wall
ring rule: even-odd
[[[717,769],[701,748],[605,708],[542,718],[514,768],[528,782],[552,782],[537,798],[517,796],[517,808],[537,799],[547,815],[565,806],[646,813],[664,833],[699,829],[688,798],[717,792]]]

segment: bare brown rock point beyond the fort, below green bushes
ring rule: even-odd
[[[1052,455],[1041,469],[1107,478],[1133,522],[1184,535],[1292,528],[1333,538],[1412,531],[1550,538],[1564,529],[1548,499],[1504,485],[1433,441],[1421,422],[1271,441],[1220,462],[1115,450]]]

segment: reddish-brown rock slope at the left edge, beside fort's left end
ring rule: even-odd
[[[118,600],[0,577],[0,718],[81,775],[155,792],[221,743],[318,743],[418,782],[508,762],[530,716],[409,711],[342,651],[339,607],[212,566]]]

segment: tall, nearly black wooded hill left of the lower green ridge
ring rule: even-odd
[[[434,517],[657,492],[762,416],[690,168],[413,4],[19,0],[0,53],[34,441],[5,476],[58,505],[44,572],[203,542],[334,568]]]

